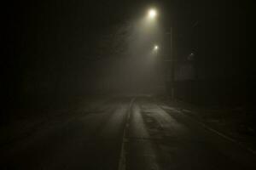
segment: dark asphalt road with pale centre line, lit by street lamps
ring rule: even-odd
[[[1,169],[256,169],[256,157],[150,97],[81,106],[1,148]]]

